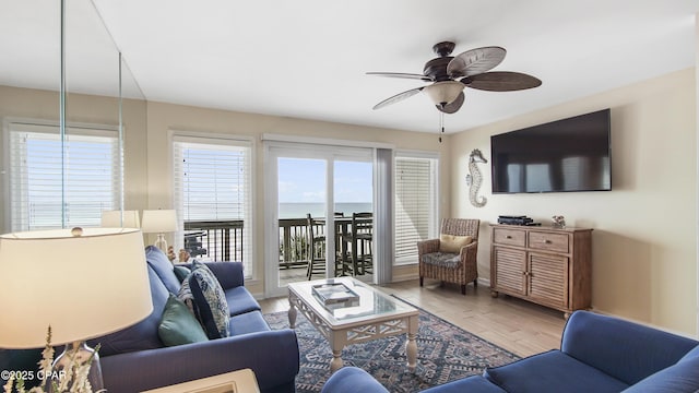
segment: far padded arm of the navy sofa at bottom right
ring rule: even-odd
[[[694,340],[618,318],[576,311],[566,323],[560,349],[635,384],[676,364],[697,344]]]

